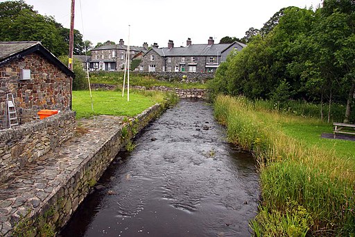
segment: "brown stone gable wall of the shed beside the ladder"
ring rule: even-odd
[[[20,80],[22,69],[31,70],[31,80]],[[5,128],[6,95],[15,97],[17,117],[25,109],[69,111],[71,78],[41,54],[33,53],[0,67],[0,129]]]

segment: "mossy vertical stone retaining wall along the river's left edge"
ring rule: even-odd
[[[21,224],[30,223],[35,229],[43,230],[49,227],[53,234],[58,233],[92,190],[96,181],[102,176],[120,149],[125,147],[128,141],[162,113],[165,108],[164,105],[156,104],[125,122],[123,126],[111,129],[112,136],[102,144],[92,146],[92,149],[81,155],[85,157],[84,161],[80,162],[68,177],[63,177],[66,179],[64,186],[58,186],[53,196],[41,204],[40,211],[32,214],[31,217],[26,217],[26,220],[20,220],[18,227],[21,227]]]

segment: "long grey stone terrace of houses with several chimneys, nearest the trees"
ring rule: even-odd
[[[214,44],[212,37],[207,44],[192,44],[191,38],[188,38],[186,47],[174,47],[173,40],[169,40],[168,47],[164,48],[159,48],[155,43],[144,54],[139,71],[214,72],[232,50],[241,51],[245,46],[241,42]]]

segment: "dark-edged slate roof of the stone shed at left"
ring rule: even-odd
[[[62,72],[71,76],[71,78],[75,77],[74,72],[69,70],[48,49],[44,48],[39,41],[0,42],[0,67],[34,52],[42,54],[44,58],[59,67]]]

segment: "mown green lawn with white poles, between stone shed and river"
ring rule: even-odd
[[[135,116],[150,106],[164,100],[161,92],[130,91],[130,101],[127,101],[127,92],[92,91],[92,101],[95,115],[125,115]],[[92,104],[88,90],[73,91],[73,111],[76,118],[92,116]]]

